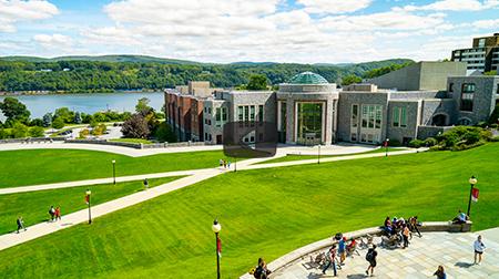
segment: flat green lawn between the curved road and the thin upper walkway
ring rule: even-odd
[[[129,157],[82,149],[0,152],[0,188],[218,166],[222,151]]]

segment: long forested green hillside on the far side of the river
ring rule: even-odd
[[[409,60],[396,59],[348,65],[251,62],[206,64],[151,56],[100,58],[2,58],[0,59],[0,91],[161,90],[195,80],[210,81],[213,86],[232,87],[247,83],[248,78],[255,73],[266,75],[269,84],[278,84],[305,71],[316,72],[329,82],[338,82],[347,75],[361,76],[374,69],[409,62]]]

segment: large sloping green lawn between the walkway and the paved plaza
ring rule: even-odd
[[[309,242],[378,226],[389,216],[451,219],[478,177],[473,229],[499,225],[499,144],[465,152],[227,173],[0,251],[6,278],[214,278],[218,217],[222,277]]]

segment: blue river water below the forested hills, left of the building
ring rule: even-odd
[[[0,96],[0,102],[6,96]],[[13,96],[26,104],[31,112],[31,118],[42,117],[48,112],[54,112],[59,107],[68,107],[71,111],[82,113],[95,113],[105,110],[118,112],[134,112],[139,99],[147,97],[151,100],[150,106],[154,110],[161,110],[164,105],[164,95],[162,92],[152,93],[86,93],[86,94],[63,94],[63,95],[20,95]],[[0,118],[3,115],[0,113]]]

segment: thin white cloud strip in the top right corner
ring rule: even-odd
[[[406,6],[406,11],[480,11],[499,6],[498,0],[440,0],[426,6]]]

